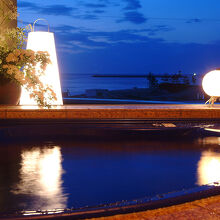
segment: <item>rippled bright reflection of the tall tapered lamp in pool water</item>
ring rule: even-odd
[[[20,182],[12,192],[33,197],[31,210],[66,208],[60,147],[25,150],[21,157]]]

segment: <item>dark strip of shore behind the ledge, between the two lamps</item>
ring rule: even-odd
[[[63,93],[66,104],[75,102],[94,103],[155,103],[155,104],[182,104],[203,103],[208,100],[201,86],[189,85],[184,88],[132,88],[120,90],[87,89],[83,94],[70,95]]]

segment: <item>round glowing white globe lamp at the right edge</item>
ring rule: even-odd
[[[208,72],[202,80],[202,87],[207,95],[220,97],[220,70]]]

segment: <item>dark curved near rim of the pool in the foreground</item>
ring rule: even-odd
[[[201,188],[201,190],[200,190]],[[172,194],[176,195],[181,192],[181,195],[172,197]],[[168,195],[169,198],[166,198]],[[27,220],[27,219],[90,219],[99,217],[111,217],[115,215],[131,214],[137,212],[146,212],[150,210],[157,210],[160,208],[169,208],[171,206],[177,206],[185,203],[196,202],[201,199],[208,199],[212,196],[220,195],[220,183],[216,185],[203,185],[193,189],[182,190],[173,193],[167,193],[158,195],[151,198],[143,198],[138,200],[131,200],[126,202],[119,202],[116,204],[109,204],[97,207],[88,207],[77,210],[67,209],[60,214],[47,214],[47,211],[38,211],[34,215],[20,215],[20,216],[5,216],[0,219],[15,219],[15,220]],[[161,196],[165,197],[161,198]],[[156,197],[158,199],[156,199]],[[140,202],[141,200],[150,200]],[[137,202],[136,204],[132,204]],[[129,205],[122,205],[123,203],[130,203]],[[37,214],[38,213],[38,214]],[[41,214],[40,214],[41,213]],[[23,213],[24,214],[24,213]]]

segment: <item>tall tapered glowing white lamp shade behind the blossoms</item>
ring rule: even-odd
[[[56,93],[57,100],[54,100],[52,105],[63,105],[62,92],[60,86],[60,76],[57,63],[57,55],[55,48],[54,34],[51,32],[30,32],[28,34],[27,49],[37,51],[47,51],[50,55],[51,64],[48,64],[45,76],[40,80],[43,84],[48,84]],[[29,97],[28,91],[22,90],[20,105],[37,105],[34,99]]]

